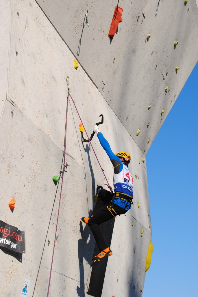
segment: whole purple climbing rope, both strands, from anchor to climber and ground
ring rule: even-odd
[[[65,172],[65,167],[67,167],[67,164],[65,164],[66,136],[67,136],[67,113],[68,113],[69,96],[71,97],[71,95],[70,95],[70,89],[69,89],[69,77],[68,76],[67,76],[67,94],[68,95],[67,95],[67,108],[66,108],[66,121],[65,121],[64,162],[63,162],[62,182],[61,182],[61,189],[60,189],[60,199],[59,199],[59,207],[58,207],[58,214],[57,214],[56,232],[55,232],[55,236],[54,236],[54,247],[53,247],[52,258],[51,258],[51,268],[50,268],[50,274],[49,274],[49,283],[48,283],[47,297],[49,297],[49,287],[50,287],[51,271],[52,271],[52,265],[53,265],[53,259],[54,259],[54,249],[55,249],[55,243],[56,243],[56,234],[57,234],[57,226],[58,226],[58,218],[59,218],[59,210],[60,210],[60,201],[61,201],[61,194],[62,194],[63,177],[64,177],[64,172]],[[75,109],[76,109],[76,111],[78,113],[78,110],[76,108],[75,102],[74,102],[74,100],[73,100],[72,97],[71,97],[71,99],[72,99],[73,104],[75,106]],[[81,120],[81,117],[80,117],[79,113],[78,113],[78,116],[79,116],[79,118]],[[82,120],[81,120],[81,123],[83,125]],[[84,125],[83,125],[83,127],[84,127]],[[84,129],[85,129],[85,127],[84,127]],[[86,129],[85,129],[85,132],[86,132]],[[87,132],[86,132],[86,135],[88,137]],[[89,139],[89,137],[88,137],[88,139]],[[96,156],[96,153],[95,153],[94,148],[93,148],[93,146],[91,144],[91,141],[89,140],[89,142],[90,142],[90,145],[91,145],[91,147],[93,149],[93,152],[94,152],[94,154]],[[96,156],[96,159],[97,159],[97,161],[98,161],[98,163],[100,165],[100,162],[99,162],[97,156]],[[100,165],[100,168],[101,168],[101,170],[102,170],[102,172],[104,174],[104,170],[102,169],[101,165]],[[107,181],[107,178],[106,178],[105,174],[104,174],[104,177],[105,177],[105,179]],[[108,181],[107,181],[107,184],[105,184],[105,185],[107,185],[108,188],[111,190],[111,193],[113,193],[112,187],[110,186],[110,184],[108,183]]]

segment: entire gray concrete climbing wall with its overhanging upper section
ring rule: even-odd
[[[182,1],[180,6],[173,3],[171,10],[166,10],[166,1],[140,3],[118,3],[124,9],[123,22],[110,42],[107,35],[117,2],[85,1],[82,6],[80,1],[76,5],[39,1],[39,6],[34,0],[0,0],[4,12],[0,26],[0,219],[25,231],[26,242],[24,254],[0,248],[2,296],[20,296],[24,279],[30,280],[28,296],[47,295],[61,182],[60,177],[55,186],[52,177],[63,169],[66,75],[88,134],[103,113],[100,127],[112,150],[129,151],[132,156],[134,205],[126,217],[115,219],[113,256],[107,263],[102,297],[142,296],[152,234],[147,168],[142,158],[197,61],[198,46],[197,39],[192,39],[197,34],[195,1],[189,0],[186,6]],[[85,24],[87,9],[89,27]],[[173,23],[167,25],[163,19],[171,32],[167,36],[172,34],[165,43],[159,34],[160,19],[166,11],[170,20],[173,10],[178,10],[174,34]],[[182,30],[188,34],[182,35]],[[148,42],[147,33],[151,34]],[[188,55],[184,54],[187,43]],[[78,69],[74,69],[74,58],[81,62]],[[185,68],[178,65],[176,74],[178,61]],[[164,74],[166,69],[170,76]],[[166,84],[171,87],[164,93]],[[148,110],[147,105],[152,108]],[[95,242],[79,219],[93,209],[96,185],[104,186],[105,181],[89,144],[81,143],[78,122],[70,101],[66,142],[70,166],[64,175],[49,296],[86,296],[91,273]],[[137,129],[141,130],[138,137]],[[92,143],[112,186],[112,165],[96,136]],[[11,198],[16,200],[13,212],[8,206]]]

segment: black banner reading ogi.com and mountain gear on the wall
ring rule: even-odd
[[[0,220],[0,247],[25,253],[25,232]]]

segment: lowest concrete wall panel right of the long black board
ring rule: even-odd
[[[111,242],[113,257],[108,259],[102,297],[142,296],[151,239],[151,234],[145,229],[141,237],[142,228],[129,213],[126,217],[116,217]],[[119,236],[120,232],[122,236]],[[123,286],[123,283],[128,285]]]

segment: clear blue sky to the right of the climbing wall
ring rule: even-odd
[[[146,155],[152,262],[143,297],[198,296],[198,63]]]

